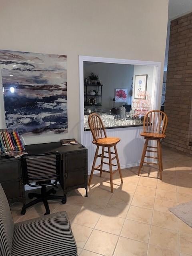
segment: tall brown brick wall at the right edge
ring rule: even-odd
[[[171,22],[164,111],[163,144],[192,154],[192,13]]]

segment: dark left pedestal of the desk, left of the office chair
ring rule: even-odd
[[[19,159],[0,160],[0,182],[10,203],[25,203],[24,184]]]

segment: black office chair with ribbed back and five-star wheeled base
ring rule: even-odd
[[[43,202],[46,214],[50,214],[48,200],[60,199],[62,204],[66,203],[66,196],[54,196],[56,190],[51,188],[46,191],[47,185],[57,184],[61,173],[61,160],[58,152],[50,152],[46,154],[25,154],[21,157],[22,173],[24,184],[31,187],[41,186],[41,194],[29,193],[29,199],[36,197],[37,199],[24,205],[21,214],[26,213],[26,208]]]

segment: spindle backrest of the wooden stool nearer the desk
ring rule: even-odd
[[[90,114],[88,118],[88,123],[89,123],[91,133],[93,135],[94,142],[97,142],[97,140],[100,138],[107,137],[104,124],[98,114],[96,113]]]

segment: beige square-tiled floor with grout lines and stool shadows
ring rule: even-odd
[[[68,194],[65,205],[50,201],[50,211],[65,210],[80,256],[188,256],[192,255],[192,228],[168,208],[192,200],[192,158],[163,148],[162,180],[156,169],[145,166],[122,170],[123,184],[94,175],[89,187]],[[62,190],[58,189],[58,194]],[[11,205],[14,222],[44,214],[40,203],[20,215],[21,204]]]

